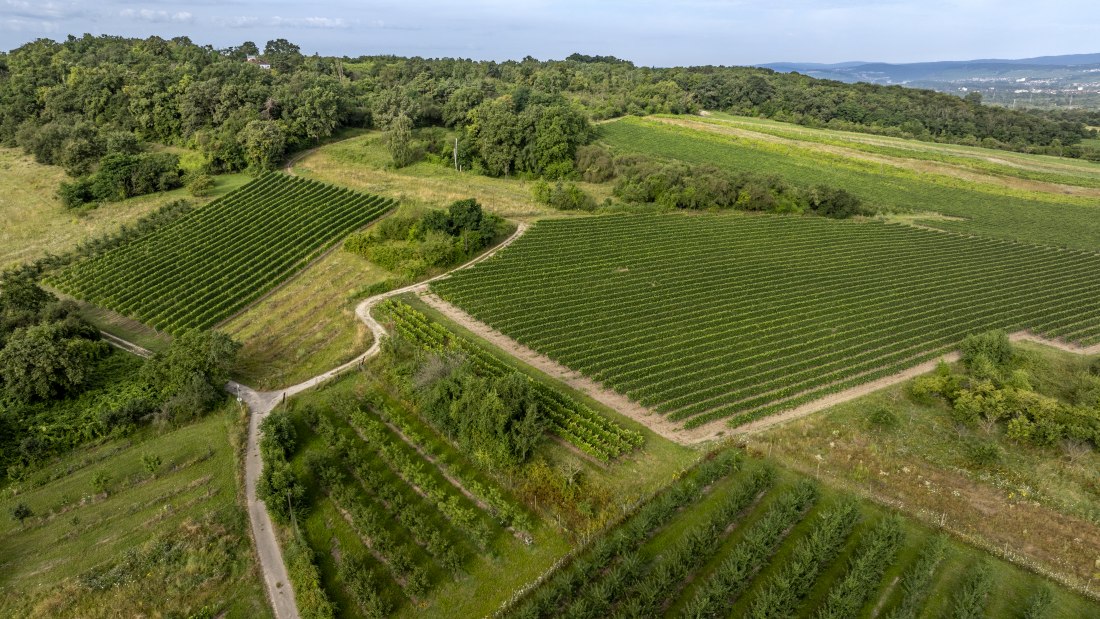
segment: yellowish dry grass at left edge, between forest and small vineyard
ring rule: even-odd
[[[186,189],[176,189],[80,210],[66,209],[56,197],[58,184],[66,179],[59,167],[36,164],[15,148],[0,148],[0,267],[64,253],[170,200],[209,201],[240,187],[248,176],[217,177],[209,198],[193,198]]]

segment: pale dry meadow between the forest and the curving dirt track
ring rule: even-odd
[[[306,178],[397,198],[403,205],[438,209],[454,200],[477,198],[486,210],[513,220],[571,214],[537,203],[526,180],[490,178],[428,162],[394,169],[381,132],[317,148],[296,161],[294,170]],[[610,195],[605,185],[581,186],[597,201]]]

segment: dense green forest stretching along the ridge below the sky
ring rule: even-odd
[[[504,63],[334,58],[302,55],[285,40],[263,49],[249,42],[216,49],[155,36],[38,40],[0,55],[0,143],[63,166],[75,179],[63,192],[69,205],[183,183],[174,156],[151,144],[197,148],[205,173],[265,169],[344,126],[398,137],[411,128],[457,129],[459,164],[466,169],[569,178],[576,148],[595,134],[593,121],[703,109],[1098,155],[1078,145],[1090,135],[1085,119],[758,68],[647,68],[579,54]]]

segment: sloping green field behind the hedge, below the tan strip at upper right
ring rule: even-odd
[[[961,219],[922,222],[943,230],[1080,250],[1094,250],[1100,237],[1096,197],[983,185],[822,152],[812,144],[776,144],[652,119],[601,125],[601,136],[620,153],[776,175],[794,185],[843,187],[871,207]]]

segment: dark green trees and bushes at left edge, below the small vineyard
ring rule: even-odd
[[[0,274],[0,468],[20,479],[84,442],[213,410],[240,345],[188,331],[150,360],[114,351],[28,269]]]

